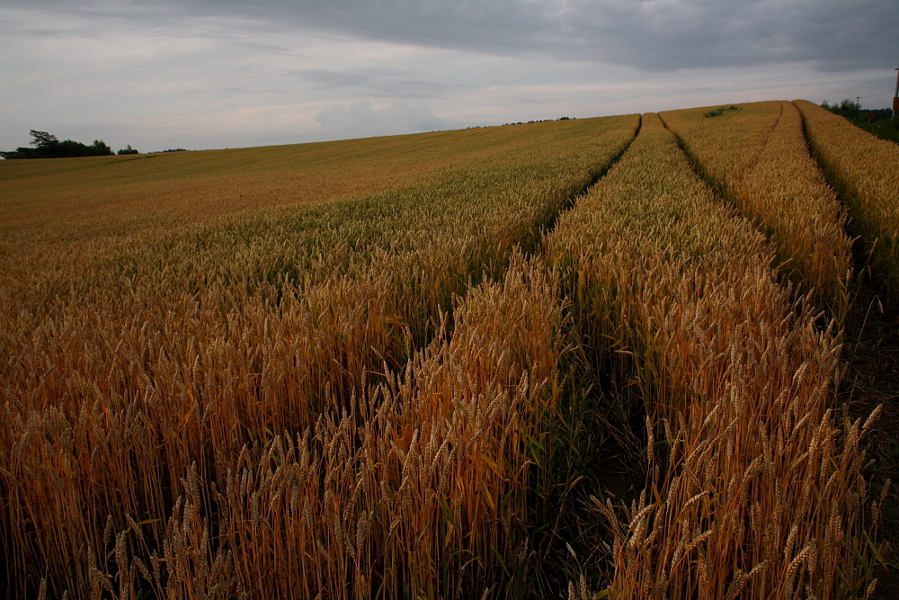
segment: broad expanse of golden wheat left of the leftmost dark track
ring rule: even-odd
[[[393,597],[496,581],[497,560],[517,556],[517,415],[530,414],[552,376],[525,351],[536,333],[514,340],[557,319],[558,300],[547,274],[537,308],[521,309],[507,341],[466,311],[526,300],[491,300],[490,282],[503,282],[515,246],[539,244],[540,229],[626,148],[637,122],[289,149],[280,171],[258,159],[263,150],[246,151],[246,181],[274,171],[282,184],[302,182],[308,171],[311,197],[301,184],[233,187],[241,167],[229,153],[63,161],[61,174],[4,165],[4,186],[23,198],[5,207],[0,255],[10,594]],[[135,171],[98,190],[110,168]],[[162,184],[142,194],[152,177]],[[164,194],[144,214],[161,189],[181,184],[184,195]],[[208,195],[194,198],[200,188]],[[263,198],[243,209],[233,197],[241,189]],[[221,190],[232,195],[219,213]],[[88,201],[92,192],[100,197]],[[47,224],[56,202],[82,210]],[[454,295],[481,280],[489,298],[454,310]],[[455,328],[475,336],[470,360],[441,345]],[[468,347],[453,340],[460,353]],[[436,396],[416,391],[425,383]],[[438,397],[445,422],[431,423],[417,404]],[[454,402],[474,412],[457,414]],[[366,428],[374,433],[360,439]],[[307,488],[303,473],[320,485]],[[376,514],[387,498],[388,512]],[[438,527],[415,512],[425,500],[432,515],[447,511],[455,536],[449,525],[425,532]],[[383,530],[370,522],[387,517]],[[282,533],[300,537],[282,546]]]

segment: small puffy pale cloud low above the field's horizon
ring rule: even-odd
[[[422,133],[460,126],[458,121],[435,116],[422,103],[396,102],[376,110],[368,100],[330,106],[316,114],[316,121],[322,124],[323,133],[330,139]]]

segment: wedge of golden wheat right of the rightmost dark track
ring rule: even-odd
[[[899,292],[899,147],[840,116],[797,100],[814,154],[850,209],[850,230],[864,240],[877,280]]]

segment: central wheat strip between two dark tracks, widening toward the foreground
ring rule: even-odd
[[[609,596],[864,593],[870,420],[829,409],[840,346],[657,116],[547,247],[596,363],[646,407],[645,490],[631,506],[595,499],[613,538]]]

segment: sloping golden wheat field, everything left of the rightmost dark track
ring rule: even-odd
[[[754,103],[0,163],[0,597],[871,596],[818,152]]]

